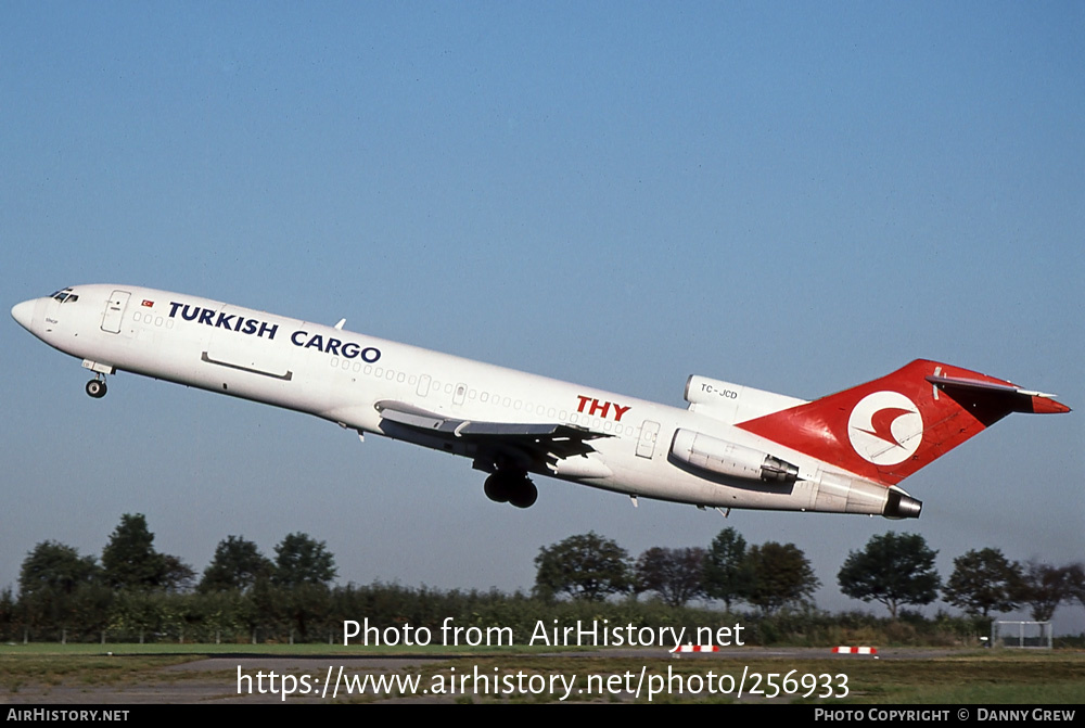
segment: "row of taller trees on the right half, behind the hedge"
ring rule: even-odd
[[[1027,605],[1032,618],[1050,621],[1063,603],[1085,605],[1085,567],[1020,564],[999,549],[970,550],[954,560],[943,584],[934,567],[937,552],[918,534],[889,532],[852,551],[837,583],[841,592],[884,604],[892,618],[903,605],[942,599],[969,616],[990,617]],[[707,549],[653,547],[633,560],[625,549],[596,533],[571,536],[540,549],[535,559],[535,593],[599,601],[613,595],[653,592],[672,606],[694,599],[722,601],[730,611],[748,603],[764,614],[809,604],[821,583],[794,544],[768,541],[748,547],[724,528]]]

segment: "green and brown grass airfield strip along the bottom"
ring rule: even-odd
[[[106,654],[112,652],[113,654]],[[358,660],[359,654],[375,657],[371,664]],[[396,651],[405,655],[403,651]],[[350,674],[372,674],[391,677],[411,676],[422,686],[449,685],[464,675],[484,675],[494,681],[511,680],[519,676],[534,680],[532,686],[544,684],[559,686],[546,690],[515,691],[513,694],[464,694],[462,691],[445,693],[437,702],[648,702],[642,691],[623,690],[636,684],[633,678],[655,680],[663,686],[684,685],[677,691],[660,690],[651,702],[736,702],[735,690],[713,693],[707,686],[711,679],[717,686],[738,685],[743,673],[748,675],[746,691],[742,702],[807,702],[817,704],[848,703],[910,703],[910,704],[1080,704],[1085,703],[1085,652],[1047,651],[949,651],[936,656],[909,656],[898,653],[892,659],[829,657],[819,652],[796,656],[765,656],[760,651],[744,652],[726,657],[680,659],[660,657],[658,653],[639,656],[608,656],[600,653],[569,652],[538,654],[516,650],[464,651],[451,656],[447,651],[417,651],[414,657],[396,661],[380,660],[373,650],[341,646],[177,646],[177,644],[29,644],[0,648],[0,698],[9,702],[207,702],[232,700],[246,702],[247,695],[238,695],[238,665],[246,663],[246,674],[256,675],[257,666],[267,662],[280,674],[322,676],[329,667],[347,664]],[[202,661],[218,655],[218,660],[202,669],[181,669],[178,665]],[[254,662],[255,661],[255,662]],[[296,662],[291,662],[296,661]],[[390,662],[391,665],[390,666]],[[378,664],[380,663],[380,664]],[[794,670],[792,673],[792,670]],[[793,682],[786,690],[783,679],[792,673]],[[780,694],[768,700],[774,689],[765,681],[776,675],[773,682],[781,686]],[[762,694],[751,694],[749,676],[760,675]],[[822,676],[816,692],[831,682],[831,699],[816,695],[802,698],[808,692],[800,680],[804,675]],[[846,676],[840,678],[840,676]],[[508,678],[507,678],[508,676]],[[535,676],[535,677],[529,677]],[[593,676],[593,677],[589,677]],[[669,676],[669,678],[668,678]],[[730,676],[730,677],[727,677]],[[831,676],[831,677],[829,677]],[[733,682],[729,682],[733,678]],[[630,681],[631,680],[631,681]],[[601,685],[617,689],[600,691]],[[845,698],[842,684],[846,685]],[[502,682],[502,685],[506,682]],[[565,687],[561,687],[565,686]],[[807,687],[813,687],[809,680]],[[302,697],[297,691],[288,698],[297,702],[330,702],[316,695]],[[417,697],[410,690],[391,690],[375,694],[340,695],[341,702],[379,702],[391,697],[401,701]],[[486,691],[483,691],[486,692]],[[510,691],[512,692],[512,691]],[[790,694],[787,694],[789,693]],[[255,697],[252,702],[255,702]],[[267,701],[281,700],[268,695]],[[435,700],[433,691],[425,700]],[[265,702],[267,702],[265,701]]]

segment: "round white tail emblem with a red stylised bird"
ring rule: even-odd
[[[847,419],[855,452],[876,465],[904,462],[923,442],[923,417],[899,392],[875,392],[856,403]]]

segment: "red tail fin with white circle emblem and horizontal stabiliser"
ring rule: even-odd
[[[917,359],[892,374],[738,426],[894,485],[1010,412],[1069,412],[1052,395]]]

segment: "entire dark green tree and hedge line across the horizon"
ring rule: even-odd
[[[637,559],[593,532],[571,536],[539,549],[531,595],[340,586],[323,541],[293,533],[273,551],[268,558],[255,542],[228,536],[197,576],[178,557],[154,548],[142,514],[125,514],[100,560],[52,540],[33,549],[20,571],[17,596],[10,587],[0,591],[0,639],[340,641],[343,621],[361,617],[381,626],[433,628],[454,616],[460,624],[529,629],[542,618],[596,618],[602,608],[638,625],[685,620],[724,626],[733,622],[738,604],[756,610],[743,621],[761,625],[763,642],[781,629],[808,638],[812,624],[833,630],[814,608],[820,582],[803,551],[775,541],[748,546],[733,528],[723,529],[707,548],[653,547]],[[915,616],[902,606],[928,604],[940,591],[947,603],[981,618],[1027,604],[1034,620],[1048,621],[1059,604],[1085,604],[1081,564],[1022,565],[986,548],[956,559],[943,585],[935,555],[915,534],[875,536],[848,555],[838,584],[850,597],[884,604],[894,622]],[[724,611],[691,612],[687,605],[694,600],[720,603]],[[805,616],[793,621],[793,613]],[[864,618],[841,616],[838,626]]]

